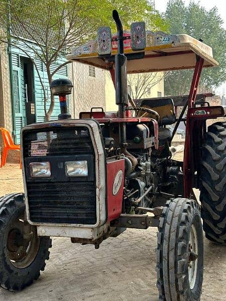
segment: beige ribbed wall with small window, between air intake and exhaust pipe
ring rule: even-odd
[[[70,64],[69,74],[74,86],[69,104],[72,118],[78,118],[79,112],[90,111],[92,107],[102,107],[105,110],[104,70],[73,62]]]

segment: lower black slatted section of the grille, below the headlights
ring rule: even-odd
[[[95,224],[93,183],[29,183],[29,212],[33,222]]]

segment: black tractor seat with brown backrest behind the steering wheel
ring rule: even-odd
[[[159,125],[169,125],[176,122],[176,115],[174,110],[174,103],[172,98],[162,98],[162,99],[144,99],[141,103],[141,107],[152,109],[159,113],[160,119],[158,121]],[[139,111],[137,116],[151,117],[149,113],[144,111]]]

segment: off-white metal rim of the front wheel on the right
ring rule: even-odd
[[[198,267],[198,239],[195,226],[191,226],[188,244],[188,277],[190,289],[195,286]]]

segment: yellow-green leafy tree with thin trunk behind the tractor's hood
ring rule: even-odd
[[[114,9],[119,11],[125,29],[132,22],[141,20],[146,21],[147,28],[152,30],[167,29],[166,23],[153,11],[148,0],[0,0],[0,24],[5,33],[0,36],[0,42],[11,44],[21,51],[26,49],[24,53],[28,57],[31,53],[35,54],[44,63],[50,84],[59,69],[52,71],[50,67],[59,57],[70,53],[73,46],[95,39],[100,26],[110,26],[116,32],[112,20]],[[36,65],[35,68],[38,72]],[[39,79],[48,119],[53,111],[54,97],[51,95],[51,105],[47,111],[47,95],[40,76]]]

